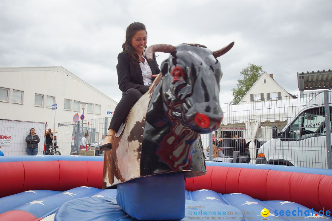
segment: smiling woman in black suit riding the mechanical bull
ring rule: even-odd
[[[122,98],[114,110],[108,134],[100,150],[112,149],[112,141],[131,107],[148,91],[153,80],[160,73],[155,56],[149,61],[145,57],[147,31],[144,24],[131,23],[126,29],[123,52],[118,55],[118,83],[123,92]]]

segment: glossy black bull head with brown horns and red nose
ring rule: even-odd
[[[218,129],[223,118],[219,106],[222,72],[216,58],[233,45],[213,52],[199,44],[156,44],[146,49],[149,60],[154,52],[170,53],[161,65],[161,73],[163,106],[171,120],[202,134]]]

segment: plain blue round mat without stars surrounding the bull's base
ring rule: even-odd
[[[232,220],[242,221],[243,215],[234,206],[217,202],[202,202],[186,200],[186,213],[184,221],[192,220],[217,220],[222,219],[222,213],[227,211],[227,217]],[[221,210],[222,209],[222,210]],[[84,197],[65,202],[57,210],[54,220],[80,220],[80,221],[112,221],[136,220],[125,213],[117,204],[115,197]]]

